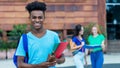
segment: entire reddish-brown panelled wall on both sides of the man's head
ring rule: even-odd
[[[25,5],[34,0],[0,0],[0,24],[13,25],[28,23],[29,14]],[[73,24],[88,24],[90,22],[102,25],[104,20],[104,0],[39,0],[47,4],[45,27],[48,29],[72,29]],[[102,9],[102,12],[99,9]],[[103,15],[103,14],[104,15]],[[99,20],[100,18],[100,20]],[[50,23],[51,25],[49,25]],[[53,24],[56,27],[53,27]],[[65,26],[66,25],[66,26]],[[2,27],[0,27],[3,29]],[[5,30],[10,30],[8,28]]]

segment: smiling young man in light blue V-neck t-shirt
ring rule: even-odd
[[[21,37],[16,51],[18,68],[54,68],[56,63],[63,63],[64,57],[56,59],[51,55],[54,47],[60,43],[60,39],[57,33],[43,27],[46,4],[35,1],[29,3],[26,9],[31,21],[31,31],[27,33],[29,60],[28,63],[24,63],[26,53]]]

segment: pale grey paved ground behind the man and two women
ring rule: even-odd
[[[105,54],[105,62],[103,68],[120,68],[120,54]],[[91,63],[89,56],[87,56],[88,66],[85,68],[91,68]],[[56,65],[57,68],[75,68],[74,61],[72,57],[66,57],[66,61],[63,64]],[[15,68],[12,59],[1,60],[0,68]]]

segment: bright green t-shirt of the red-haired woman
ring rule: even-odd
[[[88,37],[88,42],[92,46],[96,46],[96,45],[100,45],[101,46],[103,40],[105,40],[105,37],[102,34],[99,34],[96,37],[93,37],[93,35],[90,35]],[[102,48],[94,48],[93,52],[98,51],[98,50],[102,50]]]

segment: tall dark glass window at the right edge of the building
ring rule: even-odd
[[[106,0],[108,40],[120,39],[120,0]]]

